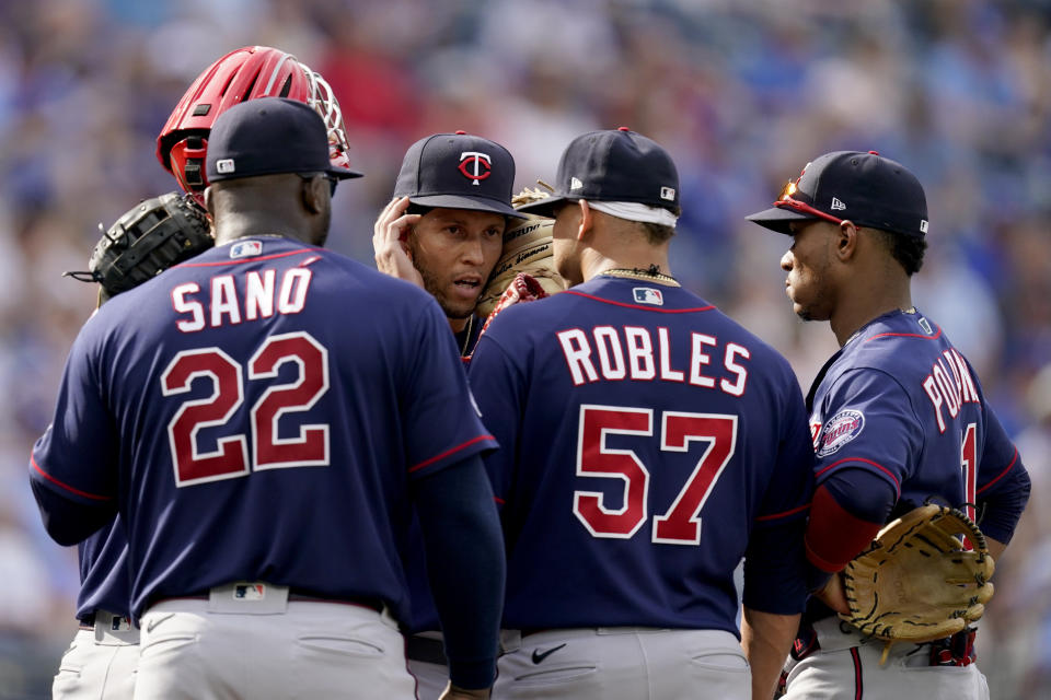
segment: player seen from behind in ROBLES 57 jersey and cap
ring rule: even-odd
[[[500,443],[486,457],[508,542],[494,695],[770,698],[806,598],[799,385],[672,275],[683,194],[660,144],[585,133],[555,183],[522,209],[555,217],[574,287],[500,312],[469,368]]]

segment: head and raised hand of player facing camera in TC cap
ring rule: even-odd
[[[463,357],[482,329],[475,306],[508,219],[524,219],[511,207],[513,185],[515,159],[499,143],[463,131],[435,133],[408,148],[394,199],[376,220],[377,267],[430,292]]]

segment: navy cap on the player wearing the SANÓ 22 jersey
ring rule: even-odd
[[[249,100],[219,115],[208,136],[206,167],[209,183],[278,173],[361,177],[332,164],[321,116],[287,97]]]

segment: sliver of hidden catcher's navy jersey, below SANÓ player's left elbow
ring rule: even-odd
[[[77,617],[95,610],[130,615],[131,574],[128,572],[128,538],[120,518],[77,546],[80,561],[80,593]]]

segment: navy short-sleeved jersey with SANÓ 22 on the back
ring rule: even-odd
[[[33,459],[67,498],[119,504],[136,615],[258,580],[407,619],[409,482],[493,447],[430,295],[262,236],[103,306]]]

